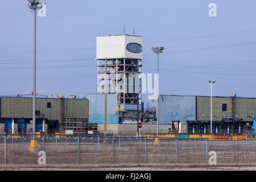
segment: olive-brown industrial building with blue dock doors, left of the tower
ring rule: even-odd
[[[71,98],[36,97],[36,132],[63,132],[64,121],[88,121],[89,101]],[[0,133],[24,135],[32,132],[32,98],[0,97]]]

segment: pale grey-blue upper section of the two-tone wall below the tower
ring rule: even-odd
[[[118,94],[107,95],[107,114],[115,114]],[[89,114],[105,114],[105,94],[88,94]]]

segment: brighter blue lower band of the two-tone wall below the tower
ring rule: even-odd
[[[104,124],[104,116],[104,114],[89,114],[89,122]],[[118,124],[118,115],[108,114],[106,120],[108,124]]]

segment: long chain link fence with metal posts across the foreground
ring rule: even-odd
[[[1,164],[38,164],[38,151],[46,152],[46,164],[208,164],[215,151],[217,164],[256,162],[256,140],[208,140],[204,138],[155,138],[102,136],[41,136],[37,151],[28,152],[31,138],[0,136]]]

